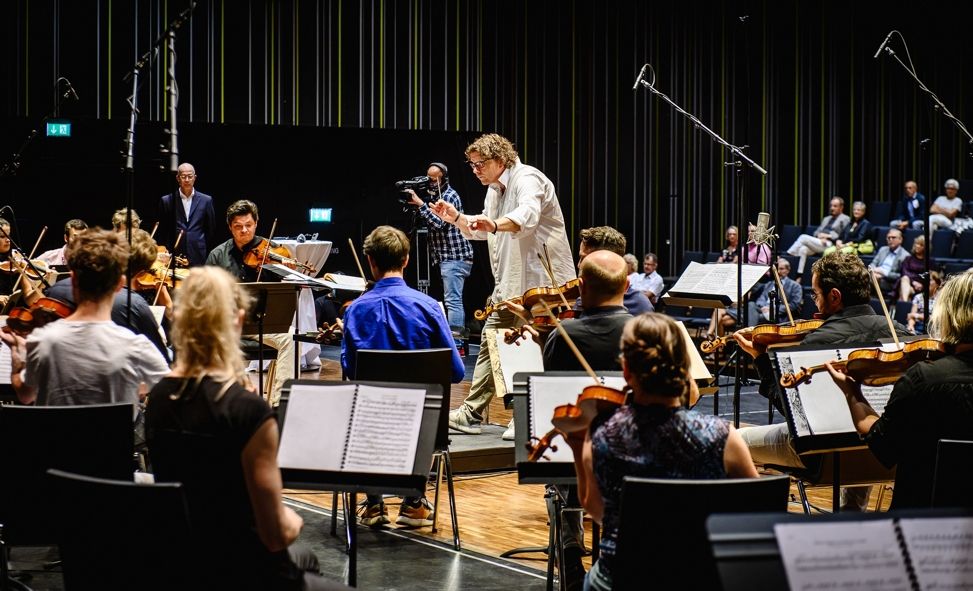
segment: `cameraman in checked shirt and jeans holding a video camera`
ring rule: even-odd
[[[406,189],[411,198],[409,204],[418,208],[417,213],[429,228],[429,243],[432,245],[432,263],[439,265],[439,272],[443,277],[443,293],[446,303],[446,318],[450,327],[462,330],[466,327],[466,315],[463,310],[463,283],[470,276],[473,268],[473,247],[460,233],[459,228],[446,223],[429,209],[428,202],[439,199],[449,203],[458,211],[463,211],[463,202],[459,193],[449,186],[449,171],[446,165],[433,162],[426,171],[429,183],[426,191],[427,200],[423,200],[412,189]],[[457,343],[459,344],[459,343]]]

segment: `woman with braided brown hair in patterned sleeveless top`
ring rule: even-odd
[[[581,504],[601,523],[601,555],[585,580],[595,591],[612,588],[622,479],[756,478],[750,451],[732,425],[686,408],[696,389],[679,327],[668,316],[642,314],[621,339],[627,404],[597,417],[574,450]]]

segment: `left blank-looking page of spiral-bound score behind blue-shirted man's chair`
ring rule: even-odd
[[[277,451],[280,467],[340,470],[354,402],[355,384],[294,384]]]

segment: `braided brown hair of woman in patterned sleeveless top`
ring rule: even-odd
[[[622,332],[622,357],[646,394],[682,396],[689,392],[689,352],[676,322],[648,312],[628,321]]]

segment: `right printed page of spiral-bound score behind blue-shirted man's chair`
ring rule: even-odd
[[[359,386],[342,469],[412,474],[425,401],[425,390]]]

